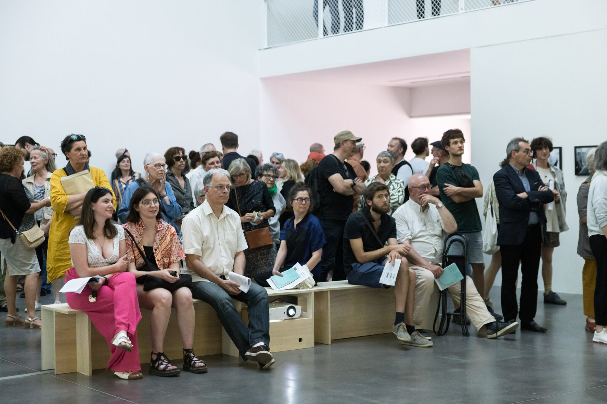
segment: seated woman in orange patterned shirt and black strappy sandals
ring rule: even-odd
[[[175,283],[179,276],[179,261],[185,257],[177,232],[162,220],[160,202],[155,190],[140,187],[131,197],[126,230],[126,256],[128,271],[137,279],[137,297],[140,306],[152,311],[150,331],[152,354],[150,374],[177,376],[181,371],[163,353],[164,335],[169,325],[171,308],[177,309],[177,326],[183,343],[183,368],[192,373],[206,373],[205,363],[192,350],[194,344],[194,302],[187,286],[171,292],[163,287],[144,290],[144,276],[154,276]],[[136,244],[135,244],[136,243]],[[145,258],[141,256],[145,254]],[[158,268],[146,266],[146,260]],[[172,271],[177,271],[173,276]],[[188,275],[189,277],[189,275]]]

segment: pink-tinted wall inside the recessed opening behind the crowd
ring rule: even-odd
[[[260,94],[260,147],[267,159],[274,151],[304,162],[310,145],[319,142],[326,153],[333,150],[333,136],[350,130],[365,142],[364,159],[376,174],[375,157],[385,150],[392,137],[402,137],[410,145],[416,137],[439,140],[443,132],[460,127],[470,134],[470,118],[462,116],[430,116],[410,118],[415,108],[414,91],[420,88],[383,87],[377,85],[331,84],[327,82],[263,79]],[[450,88],[439,94],[451,94]],[[461,91],[465,93],[465,91]],[[454,97],[459,97],[454,94]],[[460,99],[460,98],[457,98]],[[469,109],[469,90],[458,105]],[[427,111],[432,108],[426,107]],[[441,105],[440,111],[450,111]],[[438,111],[438,110],[437,110]],[[453,113],[453,112],[452,112]],[[433,115],[432,113],[431,115]],[[467,147],[469,147],[468,142]],[[409,148],[405,157],[415,154]],[[467,149],[467,159],[470,150]],[[429,160],[429,159],[428,159]],[[469,160],[468,160],[469,161]]]

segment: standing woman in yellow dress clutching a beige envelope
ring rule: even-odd
[[[61,303],[59,289],[63,286],[61,280],[66,271],[72,266],[70,257],[70,231],[78,224],[82,213],[82,204],[86,192],[68,194],[61,179],[88,170],[94,187],[111,189],[106,174],[97,167],[89,167],[86,137],[83,134],[71,134],[61,142],[61,153],[66,156],[67,165],[53,172],[50,177],[50,204],[53,207],[53,217],[50,222],[49,248],[46,257],[47,282],[51,283],[55,294],[55,303]],[[116,197],[112,193],[112,204],[116,207]]]

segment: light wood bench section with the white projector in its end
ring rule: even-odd
[[[270,341],[273,352],[314,346],[314,291],[275,291],[266,288],[270,302],[280,296],[296,296],[302,306],[302,315],[297,319],[273,320],[270,322]],[[245,323],[246,305],[234,300]],[[194,351],[206,356],[224,353],[239,356],[238,350],[223,329],[212,307],[202,300],[194,299],[195,334]],[[137,325],[137,342],[141,363],[149,362],[152,351],[150,332],[150,310],[141,310],[141,321]],[[90,376],[93,369],[104,369],[110,351],[103,336],[92,326],[84,311],[70,308],[67,303],[44,305],[41,309],[42,326],[42,370],[55,369],[55,374],[78,372]],[[172,310],[171,319],[164,337],[164,353],[171,359],[183,355],[181,336],[177,326],[177,313]]]

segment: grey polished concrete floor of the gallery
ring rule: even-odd
[[[433,348],[382,334],[276,353],[270,371],[215,355],[204,358],[207,374],[161,379],[144,364],[143,380],[131,382],[103,370],[39,373],[39,331],[0,326],[0,403],[605,403],[607,346],[584,330],[582,296],[561,297],[569,304],[538,302],[547,334],[487,340],[452,326]],[[492,299],[499,313],[499,288]],[[18,306],[23,313],[24,299]]]

